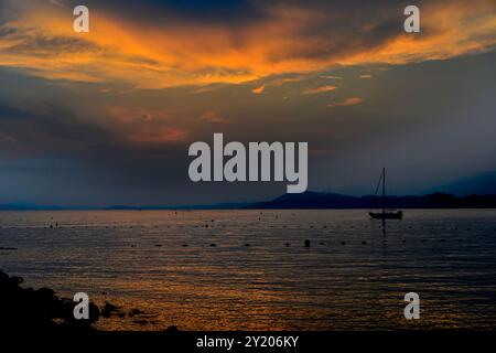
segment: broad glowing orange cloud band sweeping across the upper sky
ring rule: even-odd
[[[265,18],[239,25],[193,20],[143,25],[93,11],[90,33],[82,34],[72,31],[67,8],[4,1],[20,14],[0,28],[0,65],[51,79],[125,82],[138,88],[248,83],[334,65],[446,60],[496,45],[490,0],[429,2],[421,9],[420,34],[402,32],[399,23],[387,35],[373,32],[382,24],[374,21],[402,20],[401,9],[365,14],[355,28],[346,19],[356,11],[326,13],[310,6],[266,6]]]

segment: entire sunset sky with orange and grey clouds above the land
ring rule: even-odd
[[[395,194],[496,171],[496,2],[410,2],[0,0],[0,203],[285,192],[192,183],[187,147],[214,132],[308,141],[313,191],[371,193],[382,165]]]

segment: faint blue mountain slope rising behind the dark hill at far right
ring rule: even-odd
[[[431,190],[430,192],[433,192]],[[484,173],[481,175],[465,178],[439,188],[438,192],[445,192],[455,195],[482,195],[496,194],[496,172]]]

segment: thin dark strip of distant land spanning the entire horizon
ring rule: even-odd
[[[496,194],[457,196],[448,193],[432,193],[427,195],[387,196],[386,204],[390,208],[496,208]],[[359,210],[380,207],[380,196],[305,192],[301,194],[284,194],[273,200],[251,203],[159,206],[58,206],[9,203],[0,204],[0,211]]]

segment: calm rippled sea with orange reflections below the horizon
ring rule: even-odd
[[[496,328],[496,210],[407,210],[386,229],[359,210],[0,212],[0,247],[18,248],[0,268],[24,286],[144,312],[104,330]],[[420,320],[403,318],[410,291]]]

